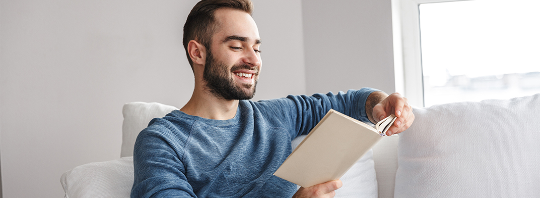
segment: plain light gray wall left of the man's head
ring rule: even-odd
[[[124,103],[188,100],[195,2],[2,0],[4,197],[63,197],[63,172],[119,157]]]

